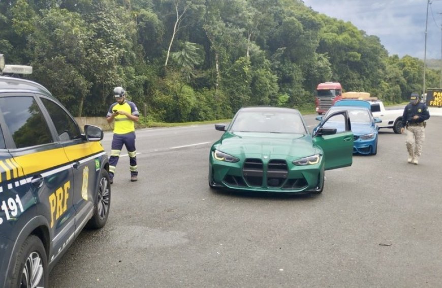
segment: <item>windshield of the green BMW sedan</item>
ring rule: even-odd
[[[242,111],[229,131],[308,134],[300,114],[279,111]]]

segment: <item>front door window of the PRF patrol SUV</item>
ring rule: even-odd
[[[78,125],[63,108],[51,100],[42,98],[42,101],[51,116],[61,141],[80,138],[81,132]]]

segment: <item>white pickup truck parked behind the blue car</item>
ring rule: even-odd
[[[381,100],[367,100],[371,103],[371,113],[373,117],[380,118],[382,123],[378,123],[379,128],[392,128],[394,133],[399,134],[402,127],[403,109],[385,109]]]

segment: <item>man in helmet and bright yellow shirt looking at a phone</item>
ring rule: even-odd
[[[129,170],[131,172],[131,181],[137,181],[137,151],[135,149],[135,125],[138,122],[138,108],[134,102],[126,100],[126,92],[121,87],[114,89],[114,96],[117,102],[109,107],[106,120],[108,123],[114,123],[114,135],[112,138],[112,151],[109,157],[109,177],[110,183],[113,183],[115,167],[120,157],[123,145],[129,154]]]

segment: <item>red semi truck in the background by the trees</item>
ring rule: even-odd
[[[316,112],[322,114],[342,99],[342,87],[339,82],[319,83],[316,88]]]

